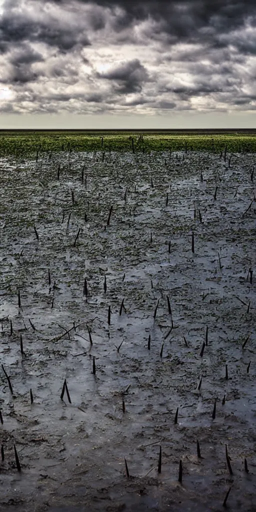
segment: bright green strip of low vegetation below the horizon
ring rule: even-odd
[[[256,152],[256,137],[253,135],[214,134],[77,134],[77,133],[2,133],[0,156],[37,156],[46,152],[144,152],[151,151],[206,151]]]

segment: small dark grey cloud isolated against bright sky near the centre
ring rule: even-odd
[[[148,73],[139,59],[125,62],[105,73],[96,73],[96,76],[117,82],[117,91],[125,94],[141,91],[142,82],[148,80]]]

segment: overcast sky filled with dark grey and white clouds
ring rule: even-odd
[[[0,129],[255,118],[256,0],[0,0]]]

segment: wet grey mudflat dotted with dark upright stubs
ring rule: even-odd
[[[2,159],[1,512],[256,509],[255,155],[228,157]]]

